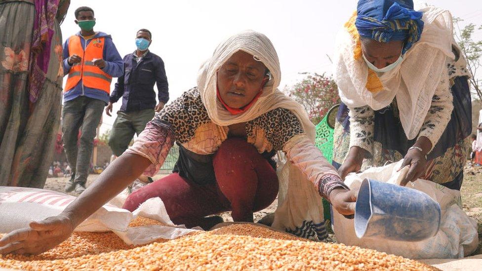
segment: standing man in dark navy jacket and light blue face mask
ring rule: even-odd
[[[139,135],[169,100],[167,77],[161,57],[149,51],[152,34],[147,29],[137,32],[134,53],[124,56],[124,75],[119,77],[111,93],[106,114],[111,116],[112,104],[122,97],[121,110],[112,127],[109,146],[120,156],[129,146],[134,133]],[[154,84],[157,84],[159,103],[156,105]]]

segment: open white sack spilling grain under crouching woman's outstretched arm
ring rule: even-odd
[[[75,197],[54,191],[0,187],[0,232],[11,232],[29,227],[30,222],[40,221],[60,214]],[[127,226],[137,216],[160,221],[164,225],[137,228]],[[196,230],[176,226],[167,215],[160,198],[151,198],[133,213],[105,204],[75,229],[76,232],[108,232],[119,235],[127,244],[145,244],[157,238],[173,239]]]

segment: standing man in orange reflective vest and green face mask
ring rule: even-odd
[[[68,75],[62,109],[62,141],[72,178],[66,192],[81,193],[89,173],[96,128],[109,102],[112,77],[123,74],[123,63],[110,35],[94,32],[94,11],[75,11],[80,32],[64,43],[64,75]],[[80,129],[80,143],[78,136]]]

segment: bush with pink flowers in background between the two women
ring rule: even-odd
[[[330,76],[325,74],[301,73],[305,77],[292,87],[285,87],[284,91],[293,100],[305,107],[310,120],[318,124],[328,110],[340,103],[338,87]]]

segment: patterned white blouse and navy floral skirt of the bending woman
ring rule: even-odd
[[[446,74],[441,77],[418,136],[425,136],[433,143],[422,178],[460,190],[463,167],[470,152],[472,109],[465,61],[455,47],[453,51],[457,58],[447,58]],[[368,106],[350,110],[342,104],[336,120],[332,163],[336,168],[352,146],[370,154],[363,161],[363,170],[401,160],[418,138],[406,138],[396,99],[378,111]]]

